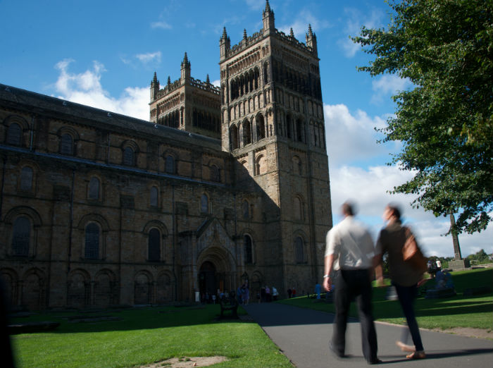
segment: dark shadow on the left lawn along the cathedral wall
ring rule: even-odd
[[[244,313],[241,308],[239,314]],[[71,322],[70,317],[81,315],[85,319],[92,316],[120,317],[119,321],[85,321]],[[58,329],[39,333],[94,333],[107,331],[130,331],[146,329],[166,329],[177,326],[196,326],[221,323],[253,323],[242,319],[219,319],[220,306],[206,305],[204,307],[149,307],[142,309],[106,309],[94,313],[51,312],[33,314],[27,318],[11,319],[10,323],[25,323],[36,321],[60,322]]]

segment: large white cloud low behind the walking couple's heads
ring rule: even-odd
[[[454,245],[451,236],[443,236],[449,230],[448,216],[437,218],[423,209],[413,209],[409,204],[415,198],[412,195],[391,195],[387,192],[411,176],[411,173],[399,171],[396,166],[342,166],[332,170],[330,192],[335,223],[340,221],[338,214],[342,203],[349,199],[354,200],[358,206],[358,217],[370,226],[370,231],[376,239],[384,225],[381,219],[382,211],[387,203],[393,202],[402,209],[404,223],[411,226],[426,255],[453,257]],[[487,253],[492,252],[492,238],[493,224],[482,233],[459,235],[463,257],[481,249]]]

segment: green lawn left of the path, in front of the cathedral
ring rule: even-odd
[[[72,323],[74,313],[17,321],[58,321],[58,329],[12,336],[17,367],[138,367],[170,357],[224,355],[211,367],[292,367],[255,323],[216,321],[218,305],[108,311],[121,321]],[[99,313],[101,314],[101,313]],[[89,317],[87,314],[86,317]]]

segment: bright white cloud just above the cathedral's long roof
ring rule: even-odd
[[[111,97],[101,85],[101,73],[106,71],[103,64],[94,61],[91,70],[77,74],[68,70],[72,62],[72,59],[65,59],[56,64],[60,70],[54,85],[58,98],[149,120],[147,87],[126,87],[120,97]]]

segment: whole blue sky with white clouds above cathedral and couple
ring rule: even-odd
[[[376,237],[387,202],[398,202],[428,255],[452,256],[448,218],[411,209],[413,197],[389,195],[411,173],[386,166],[399,143],[377,145],[374,127],[394,112],[390,99],[408,83],[392,75],[370,78],[356,70],[371,56],[353,44],[361,25],[385,27],[382,0],[271,0],[275,26],[305,42],[308,24],[318,39],[332,211],[349,198]],[[265,0],[13,1],[0,0],[0,82],[89,106],[147,119],[149,84],[180,77],[185,51],[192,77],[219,80],[219,38],[231,43],[262,27]],[[464,256],[492,252],[493,226],[459,237]]]

